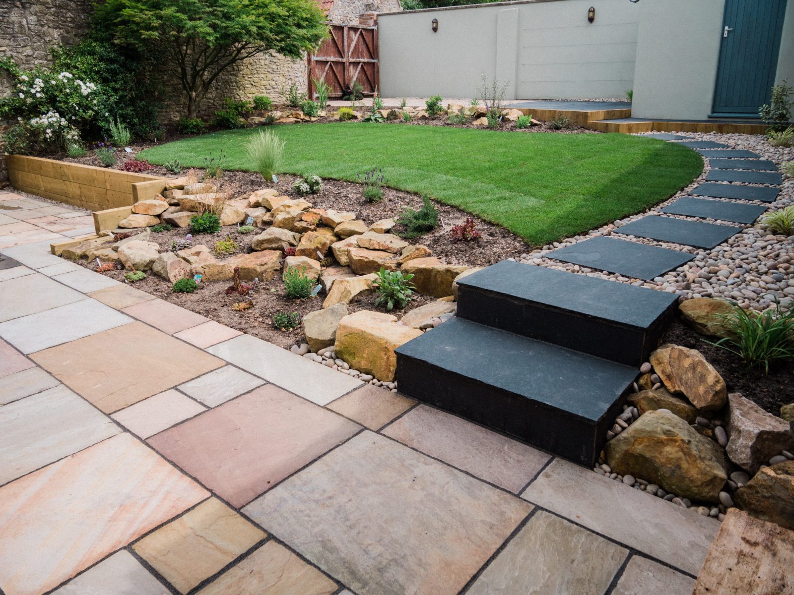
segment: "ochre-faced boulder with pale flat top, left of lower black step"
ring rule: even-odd
[[[391,382],[397,367],[395,349],[422,335],[422,331],[396,321],[391,314],[369,310],[349,314],[339,322],[333,350],[350,367]]]

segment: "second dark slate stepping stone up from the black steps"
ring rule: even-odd
[[[646,237],[661,242],[687,244],[696,248],[714,248],[742,228],[731,225],[715,225],[703,221],[685,221],[672,217],[649,215],[615,229],[627,236]]]

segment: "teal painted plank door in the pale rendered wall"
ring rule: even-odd
[[[725,0],[715,115],[757,117],[775,84],[786,0]]]

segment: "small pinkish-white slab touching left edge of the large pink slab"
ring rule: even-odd
[[[202,411],[206,411],[206,407],[202,407],[193,399],[185,397],[176,390],[166,390],[164,393],[152,395],[148,399],[129,405],[110,417],[133,434],[148,438]]]

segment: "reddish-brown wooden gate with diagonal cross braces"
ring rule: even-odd
[[[309,97],[314,98],[313,78],[326,81],[330,98],[341,99],[353,83],[371,96],[379,77],[378,29],[362,25],[330,25],[330,29],[331,36],[309,55]]]

